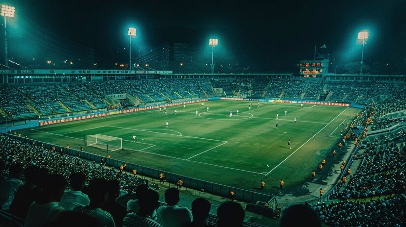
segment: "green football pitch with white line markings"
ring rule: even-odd
[[[258,190],[261,179],[267,189],[279,187],[280,178],[286,182],[285,188],[293,188],[307,180],[323,156],[331,152],[343,123],[350,123],[359,111],[271,102],[260,106],[253,102],[249,110],[249,101],[204,104],[167,107],[167,115],[162,108],[161,112],[117,114],[21,132],[35,140],[63,147],[69,144],[77,150],[83,147],[103,156],[106,149],[85,147],[85,134],[119,137],[123,149],[109,153],[122,162],[246,190]]]

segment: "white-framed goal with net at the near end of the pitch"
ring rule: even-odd
[[[107,151],[122,149],[122,139],[102,134],[86,135],[86,146],[96,147]]]

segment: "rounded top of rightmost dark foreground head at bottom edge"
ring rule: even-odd
[[[280,227],[298,226],[321,227],[319,215],[309,206],[303,204],[291,205],[282,210],[279,219]]]

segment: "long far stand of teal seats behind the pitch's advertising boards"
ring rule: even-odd
[[[394,82],[326,81],[324,78],[137,79],[88,83],[0,85],[0,121],[71,112],[114,109],[120,101],[107,95],[128,94],[141,104],[208,97],[318,100],[366,104],[390,96],[405,85]],[[215,94],[213,88],[222,88]],[[324,99],[324,98],[323,98]],[[324,101],[324,100],[321,100]],[[113,103],[111,103],[113,102]],[[137,102],[137,104],[139,103]],[[368,103],[367,103],[368,104]]]

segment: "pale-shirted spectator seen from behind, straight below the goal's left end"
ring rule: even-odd
[[[86,175],[73,173],[69,177],[72,190],[65,191],[60,199],[59,205],[65,210],[73,210],[77,206],[87,206],[90,203],[89,197],[82,192],[85,187]]]

